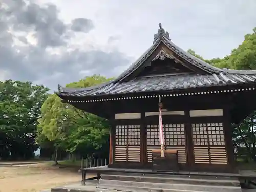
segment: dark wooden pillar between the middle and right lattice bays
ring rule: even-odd
[[[190,121],[189,110],[185,110],[185,134],[186,134],[186,154],[187,166],[192,169],[195,165],[193,140],[192,140],[192,127]]]

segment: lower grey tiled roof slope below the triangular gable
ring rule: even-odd
[[[123,93],[179,90],[187,88],[203,88],[213,86],[223,86],[227,84],[242,84],[255,82],[256,74],[207,74],[207,75],[170,75],[161,77],[144,77],[120,84],[113,84],[112,87],[104,86],[92,90],[65,91],[61,95],[65,96],[97,96],[115,95]],[[108,91],[109,89],[109,91]],[[102,91],[103,90],[103,91]],[[105,91],[104,91],[105,90]]]

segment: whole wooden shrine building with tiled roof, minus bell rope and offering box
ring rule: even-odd
[[[152,168],[160,96],[164,147],[177,151],[179,170],[234,172],[232,124],[255,110],[255,87],[256,71],[214,67],[176,46],[160,25],[152,46],[115,80],[59,86],[57,94],[110,120],[111,168]]]

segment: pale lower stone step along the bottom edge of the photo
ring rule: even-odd
[[[138,187],[138,188],[157,188],[173,189],[173,190],[193,190],[193,191],[211,191],[211,192],[240,192],[241,187],[238,186],[214,186],[214,185],[192,185],[192,184],[175,184],[175,183],[150,183],[150,182],[135,182],[135,181],[116,181],[100,179],[97,187],[105,188],[109,186],[120,187]]]

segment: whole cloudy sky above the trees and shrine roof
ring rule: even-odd
[[[151,44],[223,57],[256,27],[255,0],[0,0],[0,80],[52,90],[84,76],[117,76]]]

